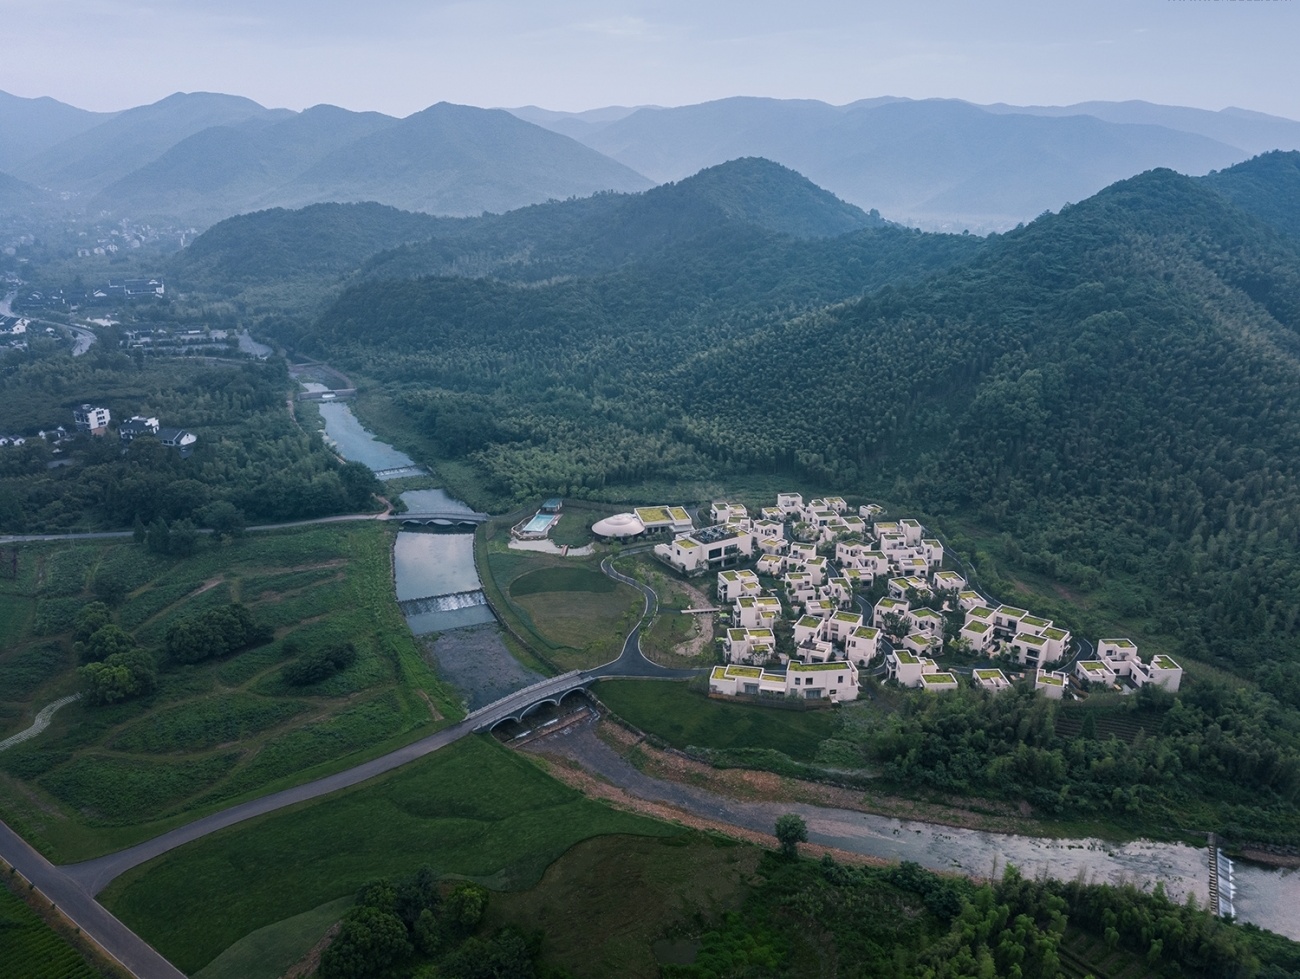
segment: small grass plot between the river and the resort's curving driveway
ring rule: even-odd
[[[641,615],[641,594],[601,573],[599,555],[512,551],[506,546],[508,532],[508,519],[494,520],[480,528],[476,540],[485,590],[506,624],[559,671],[618,657]]]

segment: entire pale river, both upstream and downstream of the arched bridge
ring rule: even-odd
[[[320,408],[325,433],[344,459],[365,463],[372,469],[416,465],[408,455],[367,432],[346,403],[326,402]],[[473,512],[441,489],[411,490],[403,493],[402,499],[412,510]],[[474,568],[473,534],[403,530],[398,534],[393,560],[398,602],[416,634],[493,621]],[[580,742],[581,738],[573,738],[569,744],[576,749]],[[594,753],[595,758],[582,757],[581,761],[586,766],[595,762],[594,767],[616,785],[649,798],[672,793],[673,798],[666,801],[688,809],[703,806],[702,814],[734,826],[768,832],[779,813],[797,811],[807,820],[816,842],[885,859],[911,859],[933,870],[988,876],[994,867],[1013,862],[1026,874],[1045,872],[1065,880],[1076,876],[1112,883],[1128,880],[1145,888],[1160,880],[1174,900],[1182,901],[1187,894],[1195,894],[1201,905],[1209,900],[1209,854],[1195,846],[1150,840],[1126,844],[1049,840],[904,822],[823,806],[736,802],[676,783],[651,785],[658,780],[646,779],[603,744],[597,741],[597,745],[599,748],[588,745],[581,751],[584,755]],[[686,800],[680,797],[681,792],[699,793],[701,798]],[[1232,906],[1240,920],[1300,941],[1300,915],[1295,910],[1300,907],[1300,870],[1238,862],[1231,876]],[[1227,881],[1221,887],[1227,891]]]

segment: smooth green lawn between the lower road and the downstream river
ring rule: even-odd
[[[125,874],[100,898],[194,972],[257,928],[376,876],[428,863],[495,889],[523,888],[581,840],[679,832],[592,802],[491,738],[467,738],[365,785],[183,846]]]

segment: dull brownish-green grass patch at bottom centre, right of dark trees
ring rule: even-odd
[[[560,857],[537,887],[493,894],[485,928],[543,931],[543,958],[580,979],[655,979],[654,943],[738,907],[760,855],[703,833],[601,836]]]

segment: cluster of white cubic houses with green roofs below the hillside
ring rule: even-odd
[[[668,537],[655,545],[655,556],[688,576],[716,573],[719,606],[731,621],[722,638],[727,664],[714,668],[712,693],[850,701],[858,696],[858,670],[879,655],[885,676],[902,686],[954,690],[956,673],[933,659],[952,623],[949,642],[1006,657],[1024,668],[1037,692],[1063,697],[1070,675],[1053,667],[1072,654],[1070,632],[1026,608],[988,601],[963,575],[944,568],[944,545],[926,537],[918,520],[883,520],[881,514],[876,504],[850,514],[838,497],[805,503],[798,493],[781,493],[757,516],[741,504],[716,502],[702,529],[682,507],[641,507],[598,521],[593,530],[618,540]],[[753,568],[738,567],[750,563]],[[767,590],[763,579],[779,585]],[[871,606],[861,595],[881,579],[885,594]],[[776,641],[786,607],[793,654]],[[1143,663],[1130,640],[1102,640],[1096,657],[1074,664],[1079,680],[1176,690],[1182,679],[1169,657]],[[976,668],[971,681],[992,692],[1010,686],[997,668]]]

